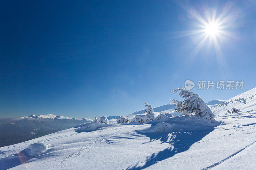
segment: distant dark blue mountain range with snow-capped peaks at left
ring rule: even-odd
[[[90,121],[92,120],[52,114],[23,116],[18,119],[0,118],[0,147],[24,142]]]

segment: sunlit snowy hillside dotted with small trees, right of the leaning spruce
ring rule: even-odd
[[[241,100],[241,102],[235,101],[236,99],[239,99],[239,98],[240,99],[244,98],[245,104],[242,100]],[[247,92],[239,94],[227,101],[228,101],[228,103],[225,105],[219,105],[217,107],[212,108],[211,109],[212,112],[215,115],[219,115],[219,116],[225,115],[227,113],[226,109],[228,109],[230,111],[231,108],[233,108],[233,107],[240,109],[242,112],[256,111],[256,87]]]

